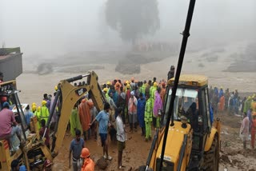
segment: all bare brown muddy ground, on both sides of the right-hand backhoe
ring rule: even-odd
[[[242,141],[238,135],[242,118],[227,114],[218,115],[218,117],[222,120],[219,169],[227,169],[229,171],[256,170],[256,149],[251,149],[250,141],[247,142],[248,149],[243,149]],[[54,170],[71,170],[68,169],[68,151],[71,140],[72,137],[70,137],[70,134],[66,133],[60,153],[54,159]],[[125,170],[135,170],[140,165],[145,165],[150,145],[151,141],[144,141],[144,138],[141,136],[141,130],[138,129],[138,132],[128,134],[126,149],[123,153],[123,165],[126,165]],[[91,157],[95,162],[102,157],[102,147],[98,145],[93,137],[89,141],[86,141],[86,147],[90,149]],[[109,153],[113,157],[113,160],[107,161],[109,165],[106,170],[117,170],[117,145],[111,141]],[[96,167],[95,170],[100,169]]]

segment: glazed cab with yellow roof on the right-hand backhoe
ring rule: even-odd
[[[210,133],[211,129],[208,80],[204,76],[195,75],[182,75],[180,80],[182,81],[179,82],[174,100],[174,121],[184,122],[185,120],[190,124],[193,129],[192,153],[199,154],[206,142],[206,135]],[[170,103],[174,78],[170,79],[168,83],[169,92],[165,106],[169,106],[168,102]],[[165,112],[165,116],[167,116],[168,107]]]

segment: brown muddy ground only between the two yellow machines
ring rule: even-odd
[[[128,125],[127,125],[128,126]],[[154,133],[154,130],[153,130]],[[146,158],[150,151],[151,141],[144,141],[144,137],[141,136],[141,130],[132,134],[127,134],[126,149],[123,152],[123,165],[126,166],[125,170],[138,169],[138,166],[146,164]],[[65,141],[63,141],[62,148],[58,157],[54,159],[54,170],[72,170],[68,169],[68,152],[70,147],[70,141],[72,137],[70,133],[66,133]],[[102,157],[102,146],[98,145],[98,142],[90,137],[90,140],[86,141],[86,147],[90,149],[91,158],[94,161],[98,161]],[[106,170],[118,169],[118,150],[117,144],[109,140],[109,155],[113,157]],[[95,170],[100,170],[98,167]]]

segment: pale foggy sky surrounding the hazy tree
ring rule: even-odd
[[[128,46],[105,22],[106,0],[0,0],[0,44],[20,46],[24,57]],[[158,0],[160,29],[144,40],[181,42],[188,0]],[[196,2],[189,46],[213,46],[256,38],[255,0]]]

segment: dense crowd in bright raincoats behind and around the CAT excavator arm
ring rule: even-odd
[[[55,89],[57,90],[57,87]],[[118,169],[123,169],[122,150],[126,147],[126,133],[128,133],[126,124],[130,127],[129,133],[137,132],[139,126],[145,141],[151,140],[152,125],[155,128],[160,127],[158,110],[162,109],[166,93],[165,80],[157,82],[154,78],[153,81],[138,82],[131,78],[130,81],[121,82],[121,80],[115,79],[113,82],[106,82],[102,85],[102,93],[106,96],[102,111],[97,111],[90,94],[82,97],[71,111],[70,134],[74,140],[70,143],[69,161],[70,167],[72,163],[74,170],[79,170],[79,167],[82,167],[81,153],[85,148],[85,141],[91,137],[101,140],[103,157],[106,160],[112,160],[108,153],[108,136],[110,136],[111,141],[118,145]],[[37,126],[41,136],[45,132],[55,95],[56,93],[54,96],[45,93],[41,106],[33,103],[31,109],[29,107],[26,109],[27,121],[30,121],[31,117],[37,117]],[[53,110],[54,117],[56,117],[58,108]],[[50,121],[50,125],[54,125],[56,120],[54,117]],[[45,137],[45,144],[50,149],[49,131],[46,131]]]

